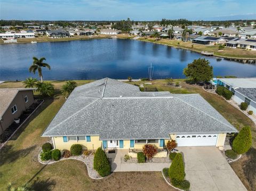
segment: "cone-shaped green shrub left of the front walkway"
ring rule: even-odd
[[[97,170],[99,175],[105,177],[110,174],[111,166],[106,153],[99,147],[95,152],[93,159],[93,169]]]

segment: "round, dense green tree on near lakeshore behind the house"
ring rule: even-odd
[[[205,82],[213,78],[213,68],[209,60],[197,59],[183,69],[183,74],[195,83],[199,81]]]

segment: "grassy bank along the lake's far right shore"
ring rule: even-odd
[[[186,48],[186,49],[190,49],[191,51],[198,52],[198,53],[201,53],[202,51],[213,52],[215,56],[220,56],[220,57],[230,57],[230,58],[236,58],[236,59],[256,59],[255,51],[246,51],[245,49],[225,48],[223,51],[219,51],[218,45],[206,46],[206,45],[201,45],[201,44],[195,44],[195,43],[192,43],[191,41],[184,42],[182,40],[175,40],[175,39],[156,40],[154,38],[146,38],[146,39],[140,38],[139,40],[173,46],[173,47],[177,47],[177,48]]]

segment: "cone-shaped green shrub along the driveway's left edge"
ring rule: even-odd
[[[175,179],[178,181],[182,181],[185,178],[185,167],[180,153],[177,153],[172,161],[169,168],[169,177],[171,180]]]

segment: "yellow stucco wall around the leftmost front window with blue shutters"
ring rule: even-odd
[[[91,136],[91,142],[86,142],[86,140],[70,140],[68,142],[63,142],[63,137],[53,137],[53,141],[55,147],[59,150],[70,150],[70,147],[74,144],[81,144],[84,150],[86,148],[88,150],[97,150],[97,148],[101,147],[102,144],[99,136]]]

